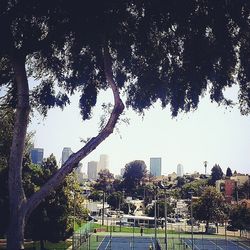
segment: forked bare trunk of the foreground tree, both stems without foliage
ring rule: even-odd
[[[114,96],[114,107],[106,126],[93,137],[78,152],[72,154],[64,165],[45,183],[38,192],[34,193],[27,201],[22,187],[22,157],[24,140],[29,117],[29,89],[25,72],[25,60],[13,60],[13,68],[18,87],[18,107],[12,141],[9,170],[10,192],[10,226],[7,237],[7,248],[17,250],[24,248],[24,227],[31,212],[56,189],[65,177],[78,166],[79,161],[90,154],[101,142],[113,133],[119,116],[124,110],[124,104],[120,99],[119,90],[114,82],[112,72],[112,60],[108,48],[103,52],[105,76]]]

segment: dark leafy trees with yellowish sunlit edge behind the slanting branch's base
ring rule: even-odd
[[[26,168],[24,187],[29,196],[53,176],[57,171],[57,164],[55,157],[51,155],[42,166],[28,165]],[[51,242],[68,238],[72,233],[74,210],[75,218],[79,218],[79,215],[81,220],[87,217],[86,211],[81,208],[82,201],[77,190],[80,191],[79,184],[72,174],[33,211],[26,227],[26,237]]]

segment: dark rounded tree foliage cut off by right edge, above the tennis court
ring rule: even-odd
[[[239,230],[250,230],[250,208],[238,205],[230,211],[230,224]]]

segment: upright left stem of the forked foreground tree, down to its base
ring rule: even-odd
[[[15,125],[9,158],[9,209],[10,223],[7,232],[7,249],[24,249],[26,197],[22,186],[22,161],[29,118],[29,87],[25,71],[25,57],[11,58],[17,87]]]

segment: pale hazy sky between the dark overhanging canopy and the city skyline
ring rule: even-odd
[[[237,88],[227,93],[235,97]],[[89,121],[81,120],[78,96],[72,97],[71,105],[63,111],[55,108],[45,119],[39,115],[33,117],[29,130],[36,131],[35,147],[44,148],[45,157],[53,153],[58,161],[63,147],[77,151],[83,145],[81,138],[98,133],[100,106],[112,101],[112,95],[102,93],[98,100]],[[176,171],[178,163],[184,166],[184,172],[204,173],[205,160],[209,173],[215,163],[224,172],[227,167],[232,171],[250,172],[250,117],[242,116],[237,107],[218,107],[205,97],[198,110],[174,119],[169,108],[162,110],[158,104],[146,111],[144,117],[131,110],[126,110],[126,117],[130,119],[129,125],[120,124],[119,133],[114,132],[82,161],[84,172],[87,162],[98,161],[100,154],[109,155],[110,170],[115,174],[133,160],[144,160],[149,168],[150,157],[162,158],[163,174]]]

